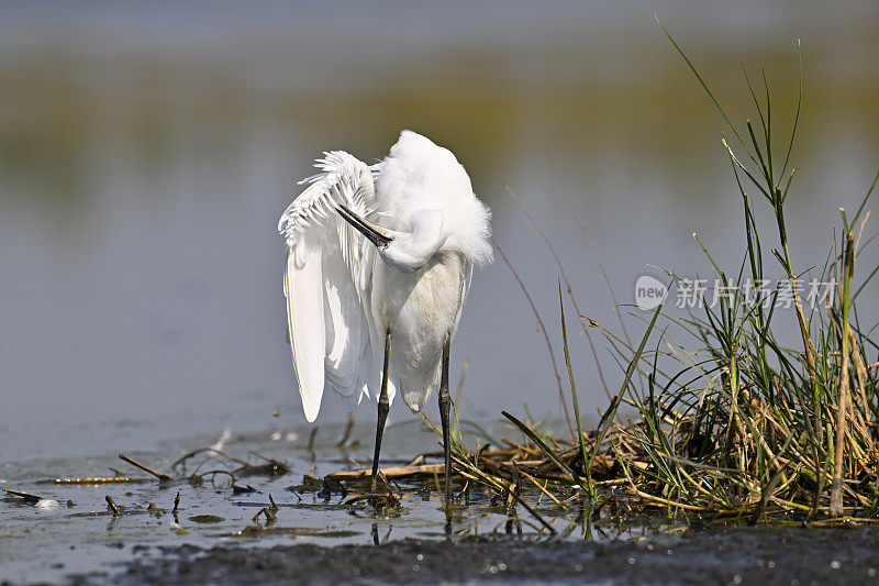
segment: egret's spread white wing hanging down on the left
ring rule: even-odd
[[[360,373],[369,360],[374,254],[336,211],[346,206],[372,215],[371,169],[341,151],[324,153],[315,166],[322,173],[302,181],[309,187],[278,222],[288,247],[285,295],[293,363],[310,422],[318,417],[325,385],[348,410],[367,392]]]

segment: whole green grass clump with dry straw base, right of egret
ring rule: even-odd
[[[503,490],[512,476],[498,469],[527,462],[530,476],[550,480],[542,489],[558,490],[559,502],[570,502],[576,490],[593,506],[615,500],[750,522],[778,522],[791,513],[798,522],[879,519],[879,363],[867,360],[879,345],[870,338],[876,327],[864,327],[857,309],[879,267],[863,272],[867,277],[855,286],[861,274],[856,261],[869,243],[861,244],[861,235],[876,180],[854,215],[841,209],[838,240],[821,270],[798,273],[808,265],[795,264],[791,255],[786,209],[795,174],[790,159],[802,103],[801,57],[792,129],[779,141],[772,135],[765,73],[757,89],[745,73],[758,122],[747,120],[739,132],[683,51],[668,38],[727,126],[723,145],[742,201],[742,263],[721,267],[693,234],[722,286],[716,302],[697,292],[699,309],[686,318],[657,307],[637,349],[601,329],[625,375],[594,432],[583,431],[563,328],[574,441],[547,438],[504,412],[527,438],[522,449],[504,452],[499,465],[490,462],[490,454],[469,453],[459,442],[456,467],[472,482]],[[758,230],[763,213],[774,220],[770,236]],[[675,273],[669,276],[682,284]],[[766,284],[769,276],[781,278],[775,287],[741,286]],[[598,325],[580,317],[588,327]],[[794,317],[798,333],[791,347],[779,332],[783,320]],[[561,319],[564,325],[564,303]],[[658,329],[661,333],[653,335]],[[692,342],[678,342],[671,336],[676,332]],[[643,388],[634,384],[638,376],[646,380]],[[621,405],[627,406],[623,422]]]

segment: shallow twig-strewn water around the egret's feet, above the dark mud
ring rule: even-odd
[[[216,475],[215,484],[210,477],[205,478],[201,486],[185,479],[196,472],[234,472],[238,465],[229,460],[200,454],[188,460],[185,467],[170,469],[181,455],[213,445],[218,441],[215,436],[166,444],[162,452],[126,454],[153,469],[183,478],[165,484],[111,456],[2,464],[0,488],[34,494],[45,500],[27,504],[11,496],[0,499],[0,582],[60,582],[71,575],[113,574],[123,563],[152,559],[163,549],[183,545],[207,550],[221,545],[266,549],[301,543],[374,545],[403,539],[445,541],[441,499],[435,490],[425,490],[424,482],[401,483],[400,508],[386,512],[364,505],[344,505],[353,494],[320,495],[320,485],[312,489],[300,487],[296,493],[290,490],[301,485],[305,475],[322,477],[331,472],[356,469],[356,463],[369,465],[372,430],[357,427],[352,439],[355,447],[345,450],[336,446],[342,431],[336,425],[321,427],[313,452],[308,449],[308,430],[277,428],[227,436],[222,445],[225,453],[253,464],[263,463],[263,457],[276,458],[290,467],[288,474],[280,476],[238,474],[235,486],[247,489],[242,494],[235,494],[226,475]],[[504,433],[501,428],[497,432]],[[382,462],[388,466],[401,465],[416,453],[435,452],[436,440],[434,432],[420,423],[390,427]],[[113,485],[51,482],[53,478],[113,476],[114,469],[146,482]],[[346,484],[356,487],[356,484]],[[175,516],[173,509],[178,493],[180,500]],[[278,506],[277,521],[266,523],[265,518],[254,521],[253,517],[269,506],[269,495]],[[108,509],[107,496],[122,508],[121,515]],[[469,491],[467,504],[456,510],[450,539],[508,533],[505,509],[492,504],[489,497],[479,489]],[[541,499],[536,491],[526,490],[524,498],[559,532],[567,529],[567,534],[558,539],[583,539],[583,529],[566,520],[575,518],[576,511],[563,513],[550,507],[552,502]],[[515,526],[514,535],[526,540],[547,539],[547,532],[536,529],[534,518],[521,509],[520,513],[522,522]],[[663,523],[652,524],[655,526],[652,530],[663,527]],[[645,530],[635,519],[627,523],[596,520],[591,539],[624,540],[641,535]]]

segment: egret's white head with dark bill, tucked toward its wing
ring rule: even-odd
[[[409,225],[401,230],[371,224],[345,207],[340,207],[338,213],[375,244],[388,266],[402,273],[426,265],[446,241],[439,210],[416,211],[410,217]]]

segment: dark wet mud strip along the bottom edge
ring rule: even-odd
[[[875,529],[728,528],[613,543],[405,539],[378,546],[160,548],[73,584],[869,584]]]

